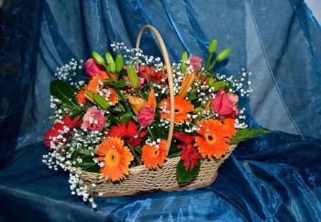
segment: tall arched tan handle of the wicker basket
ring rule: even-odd
[[[168,88],[169,88],[169,93],[170,93],[170,127],[169,127],[169,131],[168,131],[168,138],[167,138],[167,143],[168,143],[168,147],[167,147],[167,153],[170,149],[170,143],[172,142],[172,138],[173,138],[173,131],[174,131],[174,114],[175,114],[175,103],[174,103],[174,84],[173,84],[173,72],[170,66],[170,60],[168,57],[168,52],[166,50],[163,38],[161,36],[161,34],[159,34],[159,32],[157,31],[157,29],[155,29],[154,26],[151,25],[146,25],[143,26],[141,28],[141,30],[138,32],[137,35],[137,40],[136,40],[136,49],[139,49],[139,43],[141,41],[141,35],[143,34],[143,31],[145,31],[146,29],[150,29],[151,31],[153,31],[153,33],[155,34],[159,45],[161,46],[161,51],[163,53],[163,59],[165,61],[165,66],[166,66],[166,71],[167,71],[167,77],[168,77]]]

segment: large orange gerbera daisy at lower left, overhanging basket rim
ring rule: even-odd
[[[101,173],[106,179],[119,181],[129,173],[129,164],[133,161],[133,154],[120,138],[106,138],[97,148],[96,160],[103,161],[104,166]]]

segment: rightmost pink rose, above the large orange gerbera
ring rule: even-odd
[[[238,95],[227,94],[220,89],[215,98],[211,101],[213,110],[220,116],[238,116]]]

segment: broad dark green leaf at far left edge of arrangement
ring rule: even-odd
[[[78,106],[74,100],[76,91],[78,91],[76,88],[62,80],[53,80],[50,83],[50,94],[64,104]]]

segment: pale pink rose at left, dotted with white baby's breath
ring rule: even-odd
[[[83,116],[83,123],[81,128],[87,128],[90,131],[101,131],[106,124],[106,118],[98,109],[91,107],[87,109],[85,116]]]

